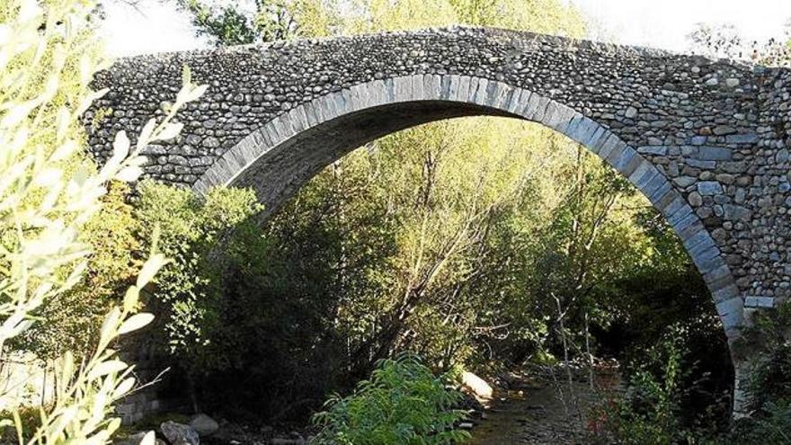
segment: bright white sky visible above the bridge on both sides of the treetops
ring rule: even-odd
[[[733,24],[749,40],[783,35],[791,0],[565,0],[594,23],[593,39],[629,45],[689,50],[686,36],[697,23]],[[169,0],[140,0],[136,7],[118,0],[105,4],[102,33],[113,56],[199,49],[189,19]]]

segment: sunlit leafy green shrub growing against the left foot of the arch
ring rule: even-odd
[[[156,312],[164,343],[184,369],[225,369],[234,350],[216,339],[233,329],[221,318],[224,254],[218,248],[261,210],[251,190],[216,188],[205,198],[156,182],[138,185],[141,230],[160,227],[159,246],[172,258],[156,278]],[[141,234],[146,238],[147,232]]]

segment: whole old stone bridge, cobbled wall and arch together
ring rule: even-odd
[[[528,32],[452,28],[123,59],[86,115],[93,155],[209,91],[148,177],[250,186],[269,209],[355,147],[459,116],[540,122],[635,184],[683,241],[733,340],[791,293],[791,71]],[[101,110],[102,112],[97,112]],[[738,374],[738,367],[737,367]]]

